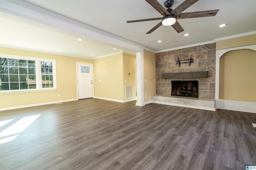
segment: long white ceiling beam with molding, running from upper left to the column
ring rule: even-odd
[[[145,48],[140,44],[112,35],[100,29],[90,27],[84,23],[60,16],[21,0],[1,0],[0,11],[76,33],[78,35],[83,35],[104,43],[118,45],[126,49],[141,52]]]

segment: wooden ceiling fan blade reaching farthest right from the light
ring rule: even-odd
[[[182,13],[177,16],[177,20],[186,18],[199,18],[199,17],[210,17],[215,16],[219,10],[208,10],[208,11],[197,11]]]

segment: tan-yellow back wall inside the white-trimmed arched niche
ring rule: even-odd
[[[220,57],[219,98],[256,102],[256,51],[229,51]]]

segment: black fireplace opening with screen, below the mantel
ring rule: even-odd
[[[198,80],[171,81],[171,96],[198,98]]]

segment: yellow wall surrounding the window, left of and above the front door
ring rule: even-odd
[[[56,60],[57,90],[0,94],[0,108],[77,99],[76,62],[93,63],[90,59],[68,57],[0,47],[0,53]],[[60,94],[60,97],[58,97]]]

